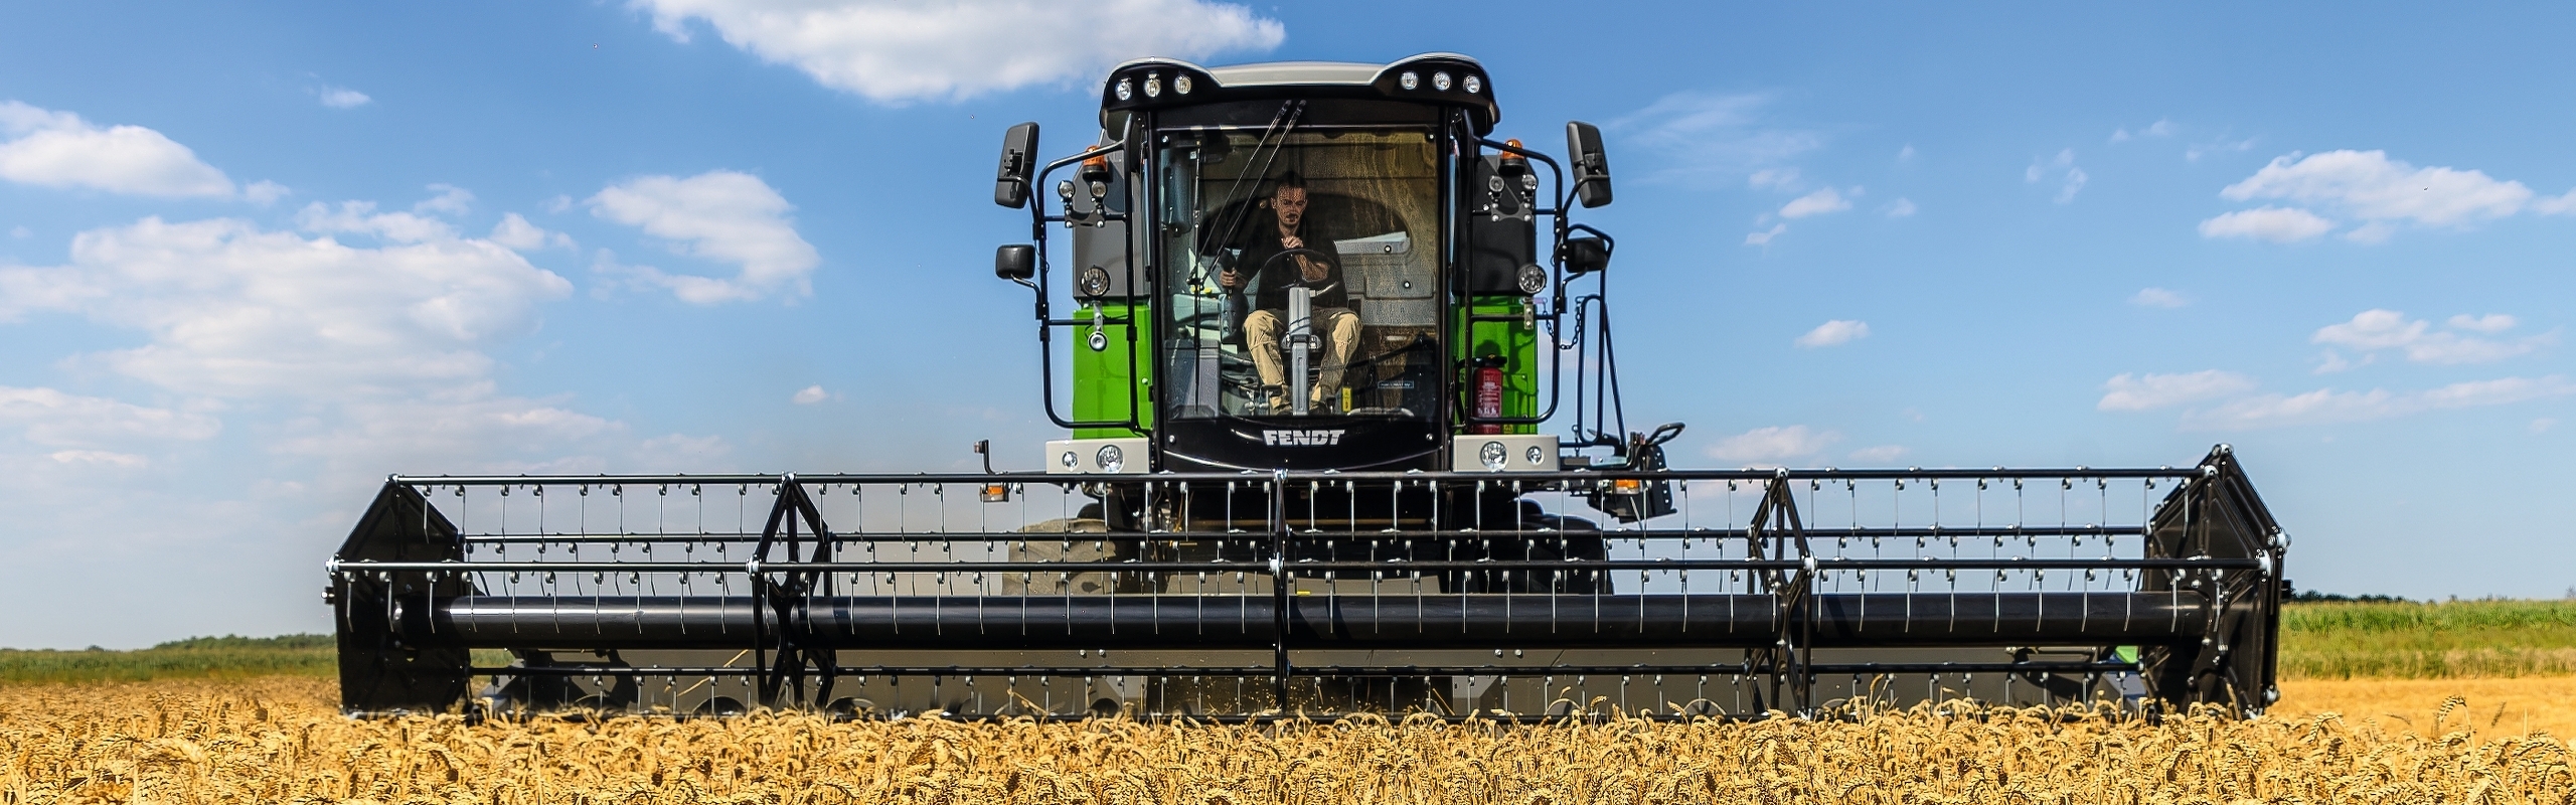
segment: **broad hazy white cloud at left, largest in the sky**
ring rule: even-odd
[[[492,364],[479,343],[531,330],[536,304],[572,289],[497,243],[368,209],[314,204],[307,219],[389,245],[307,240],[242,219],[147,217],[80,232],[67,266],[0,268],[10,292],[0,304],[28,289],[21,310],[62,307],[149,333],[144,346],[80,361],[167,390],[343,397],[479,379]]]

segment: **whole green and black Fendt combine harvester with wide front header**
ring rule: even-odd
[[[1046,160],[1012,126],[994,183],[1030,212],[997,273],[1036,297],[1046,413],[1072,431],[1043,472],[392,477],[330,562],[343,704],[2275,699],[2287,537],[2226,446],[2156,470],[1667,467],[1680,426],[1620,421],[1613,240],[1569,222],[1610,201],[1600,132],[1569,124],[1564,160],[1494,139],[1494,93],[1455,54],[1115,67],[1097,144]]]

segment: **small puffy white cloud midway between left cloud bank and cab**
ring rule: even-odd
[[[773,292],[811,294],[809,273],[822,258],[796,235],[796,209],[750,173],[708,170],[690,178],[644,175],[590,196],[590,214],[670,240],[672,253],[734,263],[734,279],[629,271],[641,284],[667,286],[690,304],[760,299]]]

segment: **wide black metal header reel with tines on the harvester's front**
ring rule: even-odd
[[[2076,480],[2179,480],[2174,490],[2154,508],[2146,526],[2115,529],[2115,526],[2009,526],[2009,529],[1821,529],[1811,532],[1793,495],[1795,485],[1806,482],[1819,488],[1821,482],[1857,482],[1857,480],[1976,480],[1976,482],[2020,482],[2025,477],[2056,477],[2061,485],[2074,488]],[[1589,560],[1589,557],[1548,557],[1548,560],[1406,560],[1406,562],[1358,562],[1358,560],[1309,560],[1298,557],[1296,542],[1319,539],[1316,534],[1301,532],[1296,506],[1296,490],[1321,482],[1352,485],[1352,488],[1378,488],[1378,485],[1494,485],[1494,482],[1520,482],[1507,488],[1512,495],[1520,490],[1538,488],[1592,488],[1607,480],[1643,480],[1643,482],[1687,482],[1687,480],[1726,480],[1726,482],[1757,482],[1762,485],[1762,503],[1752,513],[1747,529],[1721,532],[1721,529],[1649,529],[1623,532],[1638,539],[1744,539],[1752,550],[1749,557],[1716,557],[1716,560],[1669,560],[1669,557],[1643,557],[1643,560]],[[732,539],[752,542],[752,555],[739,562],[654,562],[654,560],[611,560],[611,562],[582,562],[582,560],[466,560],[466,550],[474,542],[574,542],[574,537],[464,537],[453,524],[446,521],[433,506],[428,506],[425,493],[435,488],[523,488],[523,485],[752,485],[775,493],[768,506],[768,519],[760,534],[708,534],[706,539]],[[2197,467],[2184,470],[1734,470],[1734,472],[1548,472],[1548,475],[1453,475],[1453,472],[1267,472],[1267,475],[1151,475],[1141,480],[1123,480],[1133,485],[1151,485],[1170,490],[1188,490],[1188,482],[1200,482],[1206,488],[1216,485],[1257,485],[1260,495],[1267,498],[1267,529],[1257,534],[1262,542],[1262,555],[1255,562],[1190,562],[1190,560],[1064,560],[1064,562],[922,562],[922,560],[845,560],[832,555],[837,542],[860,539],[889,539],[884,534],[835,534],[824,521],[822,508],[809,498],[809,488],[829,485],[920,485],[920,482],[1010,482],[1010,485],[1074,485],[1074,482],[1121,482],[1121,480],[1072,480],[1061,475],[595,475],[595,477],[389,477],[376,498],[376,506],[361,519],[358,529],[340,547],[330,562],[332,578],[332,604],[337,609],[340,632],[340,679],[343,702],[353,712],[425,712],[448,710],[464,697],[469,676],[477,673],[510,673],[510,676],[755,676],[760,704],[773,707],[819,707],[832,702],[832,686],[837,679],[848,676],[1267,676],[1273,684],[1273,697],[1285,704],[1291,697],[1291,681],[1296,679],[1414,679],[1414,676],[1667,676],[1667,673],[1731,673],[1754,676],[1767,684],[1770,707],[1793,712],[1816,712],[1819,702],[1814,697],[1814,684],[1821,676],[1837,673],[2141,673],[2146,679],[2148,694],[2164,707],[2184,704],[2223,704],[2236,712],[2262,712],[2275,697],[2275,642],[2280,632],[2280,596],[2282,596],[2282,552],[2287,547],[2280,526],[2272,521],[2269,511],[2254,495],[2241,467],[2226,446],[2210,452],[2210,457]],[[1497,532],[1502,534],[1502,532]],[[2040,534],[2128,534],[2141,537],[2148,544],[2143,557],[1839,557],[1819,555],[1811,539],[1855,539],[1855,537],[2040,537]],[[976,542],[976,539],[1012,539],[1025,534],[979,534],[979,532],[940,532],[938,537],[951,542]],[[1103,534],[1115,537],[1115,534]],[[1154,534],[1133,534],[1151,539],[1249,539],[1255,534],[1242,532],[1188,532],[1188,529],[1159,529]],[[1368,534],[1373,539],[1489,539],[1473,529],[1455,526],[1409,526]],[[636,537],[621,537],[636,539]],[[909,534],[907,539],[920,539]],[[1329,539],[1329,537],[1324,537]],[[603,537],[603,542],[608,542]],[[1043,573],[1249,573],[1273,578],[1267,596],[1221,596],[1224,604],[1236,606],[1244,619],[1234,622],[1218,614],[1206,617],[1206,604],[1198,604],[1198,614],[1190,614],[1190,596],[850,596],[832,588],[832,573],[1015,573],[1015,570],[1043,570]],[[1757,593],[1437,593],[1430,601],[1412,601],[1409,606],[1396,606],[1396,619],[1425,630],[1425,624],[1450,624],[1455,619],[1455,632],[1448,637],[1386,637],[1386,627],[1370,624],[1358,627],[1345,611],[1358,604],[1340,604],[1327,596],[1303,599],[1291,596],[1291,583],[1278,583],[1285,578],[1314,578],[1327,573],[1347,573],[1345,578],[1427,578],[1440,573],[1625,573],[1625,570],[1654,570],[1654,573],[1680,573],[1680,570],[1734,570],[1752,573],[1757,578]],[[1960,609],[1960,593],[1947,593],[1953,601],[1940,604],[1940,593],[1819,593],[1814,588],[1819,575],[1850,573],[1850,570],[2125,570],[2141,578],[2136,593],[1973,593],[1971,609]],[[474,573],[724,573],[732,578],[747,578],[750,596],[737,599],[600,599],[600,596],[567,596],[567,599],[477,599],[482,596]],[[1260,601],[1265,606],[1255,606]],[[2020,596],[2020,599],[2017,599]],[[2087,599],[2074,599],[2087,596]],[[739,606],[750,611],[752,632],[750,640],[724,637],[714,640],[675,637],[670,624],[647,627],[644,617],[652,606],[677,604],[677,630],[688,630],[688,606],[701,606],[696,617],[716,617],[719,622],[729,617],[726,606]],[[1054,645],[1149,645],[1162,640],[1164,645],[1180,640],[1180,630],[1231,630],[1229,635],[1190,637],[1188,642],[1211,642],[1221,648],[1267,648],[1273,663],[1267,668],[1128,668],[1128,666],[884,666],[884,663],[842,663],[845,650],[878,650],[878,648],[956,648],[956,650],[987,650],[987,648],[1028,648],[1030,622],[1020,622],[1020,635],[992,632],[989,627],[1007,627],[1007,614],[994,617],[989,611],[1005,611],[1002,606],[1020,606],[1023,614],[1030,611],[1030,601],[1043,604],[1046,624],[1064,624],[1064,635],[1054,637]],[[1123,604],[1126,601],[1126,604]],[[1139,601],[1154,606],[1139,606]],[[1991,601],[1991,604],[1989,604]],[[2056,619],[2048,619],[2050,606],[2069,606],[2076,601],[2079,609],[2069,614],[2058,609]],[[2154,622],[2130,622],[2138,617],[2141,601],[2148,614],[2169,619],[2166,627]],[[495,637],[492,632],[479,632],[479,619],[510,617],[507,606],[544,606],[559,622],[569,619],[577,627],[590,627],[598,637],[564,640],[562,630],[554,635],[541,635],[531,627],[528,635]],[[1718,619],[1716,606],[1728,609],[1726,619]],[[1759,604],[1765,611],[1759,617],[1739,617],[1739,604]],[[909,614],[904,606],[912,606]],[[945,609],[943,609],[945,606]],[[1121,609],[1123,606],[1123,609]],[[1378,606],[1378,604],[1373,604]],[[1692,606],[1700,606],[1692,611]],[[1870,614],[1878,606],[1901,606],[1904,617]],[[2125,609],[2120,609],[2125,606]],[[634,635],[605,635],[598,624],[608,622],[605,611],[616,611],[623,622],[626,611],[634,611]],[[667,606],[665,606],[667,609]],[[654,609],[654,611],[665,611]],[[1260,611],[1267,609],[1267,611]],[[1922,617],[1917,617],[1922,609]],[[502,614],[492,614],[502,611]],[[523,609],[536,611],[536,609]],[[927,614],[925,614],[927,611]],[[971,614],[969,614],[971,611]],[[1409,619],[1406,619],[1409,611]],[[1530,614],[1522,614],[1530,611]],[[1538,617],[1535,611],[1548,611]],[[1589,619],[1589,635],[1579,630],[1556,630],[1558,611],[1571,611],[1582,624]],[[1589,611],[1589,617],[1582,617]],[[2097,614],[2099,611],[2099,614]],[[2115,630],[2110,614],[2123,614],[2123,624]],[[1610,614],[1610,617],[1605,617]],[[662,614],[654,614],[662,617]],[[1376,609],[1370,617],[1378,617]],[[1613,617],[1618,622],[1613,622]],[[1633,617],[1633,622],[1631,622]],[[1947,617],[1953,635],[1929,635],[1929,624]],[[1958,624],[1963,617],[1991,619],[1991,627],[1965,630]],[[2076,627],[2066,622],[2076,619]],[[2094,619],[2102,619],[2094,624]],[[1262,624],[1255,624],[1262,622]],[[902,635],[904,624],[914,624],[912,635]],[[1535,632],[1535,624],[1551,624],[1551,630]],[[1605,630],[1607,624],[1607,630]],[[1924,624],[1927,635],[1909,632]],[[518,630],[518,622],[510,622]],[[920,630],[935,630],[933,635],[920,635]],[[969,635],[974,627],[976,635]],[[1126,637],[1105,637],[1121,635]],[[1525,627],[1512,632],[1515,627]],[[1723,630],[1721,630],[1723,627]],[[623,630],[623,627],[621,627]],[[662,630],[662,632],[657,632]],[[894,632],[889,632],[894,630]],[[945,632],[953,630],[953,632]],[[1159,630],[1172,630],[1164,637],[1149,637]],[[1445,630],[1445,627],[1443,627]],[[1698,632],[1692,632],[1698,630]],[[1757,632],[1744,632],[1757,630]],[[1873,632],[1875,630],[1875,632]],[[1376,637],[1370,637],[1376,635]],[[1043,637],[1043,635],[1038,635]],[[714,640],[714,642],[711,642]],[[1360,640],[1360,642],[1352,642]],[[2058,640],[2058,642],[2050,642]],[[2105,642],[2112,640],[2112,642]],[[549,666],[549,663],[523,663],[510,668],[474,668],[466,661],[469,648],[569,648],[569,645],[598,645],[598,648],[744,648],[755,655],[750,668],[611,668],[611,666]],[[1043,640],[1041,640],[1043,642]],[[1458,648],[1458,645],[1515,645],[1515,648],[1548,648],[1548,645],[1613,645],[1613,648],[1747,648],[1744,663],[1736,666],[1440,666],[1425,668],[1412,663],[1391,666],[1319,666],[1298,668],[1293,666],[1293,650],[1314,648],[1350,648],[1350,645],[1422,645],[1422,648]],[[1819,648],[1870,648],[1870,645],[2143,645],[2136,663],[2110,658],[2097,653],[2079,663],[2063,661],[2014,661],[2014,663],[1819,663]],[[1255,673],[1260,671],[1260,673]],[[814,694],[806,694],[806,681],[814,679]],[[2035,676],[2032,676],[2035,679]]]

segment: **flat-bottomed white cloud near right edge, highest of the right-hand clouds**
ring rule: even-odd
[[[2324,209],[2357,222],[2344,232],[2354,243],[2388,240],[2406,224],[2465,227],[2524,209],[2537,214],[2576,212],[2576,191],[2537,196],[2519,181],[2499,181],[2483,170],[2416,168],[2391,160],[2383,150],[2272,157],[2269,165],[2221,188],[2218,196],[2228,201],[2277,199]],[[2334,219],[2295,206],[2262,206],[2200,222],[2205,237],[2306,240],[2326,230],[2334,230]]]

